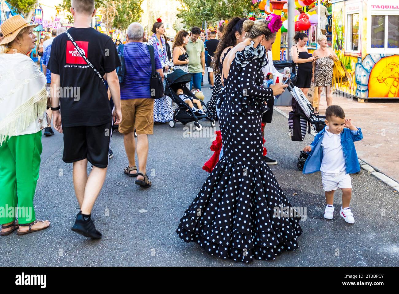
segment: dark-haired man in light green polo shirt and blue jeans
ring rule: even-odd
[[[202,76],[205,74],[205,46],[203,41],[199,38],[201,29],[198,26],[194,26],[191,29],[191,37],[188,39],[186,45],[186,51],[188,54],[188,72],[192,74],[190,82],[190,89],[201,90]]]

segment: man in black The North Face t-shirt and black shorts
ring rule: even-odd
[[[47,65],[51,71],[51,110],[55,129],[64,134],[63,161],[73,163],[73,186],[81,211],[72,230],[99,239],[101,233],[91,220],[91,210],[107,174],[114,118],[117,124],[122,119],[115,70],[120,62],[113,40],[90,27],[96,14],[94,0],[72,0],[71,14],[73,27],[51,45]],[[103,78],[108,82],[114,110]],[[88,161],[94,166],[89,177]]]

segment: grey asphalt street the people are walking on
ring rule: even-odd
[[[209,86],[203,92],[209,99]],[[276,111],[273,123],[266,126],[265,146],[268,155],[279,161],[271,169],[287,198],[293,206],[306,208],[299,248],[273,261],[242,264],[182,242],[175,230],[208,176],[202,166],[212,155],[209,131],[218,130],[218,125],[209,129],[209,121],[202,124],[206,130],[199,135],[202,138],[189,125],[154,126],[147,166],[153,185],[147,190],[123,174],[128,165],[123,137],[114,133],[114,157],[92,213],[101,240],[71,231],[79,207],[72,164],[62,161],[61,134],[43,136],[34,204],[37,218],[49,219],[51,226],[26,236],[14,232],[0,237],[0,266],[399,266],[398,193],[362,170],[351,175],[355,223],[347,224],[339,216],[340,192],[334,197],[334,219],[325,220],[320,173],[303,175],[296,167],[300,150],[313,136],[291,142],[287,119]]]

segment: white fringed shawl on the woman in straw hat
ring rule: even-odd
[[[0,54],[0,146],[8,137],[33,134],[47,126],[46,82],[28,56]]]

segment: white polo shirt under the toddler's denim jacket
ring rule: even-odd
[[[341,134],[333,134],[326,131],[323,135],[322,148],[323,148],[323,160],[320,171],[328,174],[338,174],[342,171],[346,171],[346,160],[344,151],[341,145]]]

